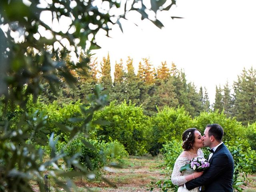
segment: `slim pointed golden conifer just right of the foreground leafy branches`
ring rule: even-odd
[[[111,79],[111,66],[109,54],[107,58],[103,58],[101,63],[101,83],[105,89],[110,90],[112,88],[112,79]]]

